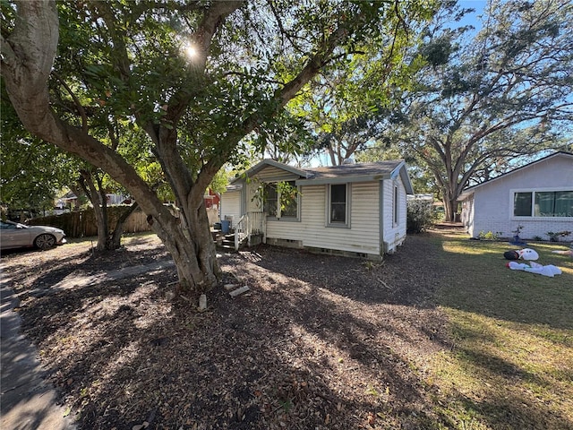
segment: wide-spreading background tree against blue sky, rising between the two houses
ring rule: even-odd
[[[415,87],[381,121],[386,141],[432,173],[453,219],[464,187],[510,159],[570,150],[573,4],[492,0],[475,37],[443,11],[426,31]]]

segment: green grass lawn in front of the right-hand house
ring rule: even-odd
[[[451,265],[438,305],[451,348],[432,359],[434,412],[449,428],[573,428],[573,259],[560,244],[530,244],[554,278],[511,271],[514,246],[435,236]]]

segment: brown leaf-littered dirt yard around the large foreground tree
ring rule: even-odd
[[[432,297],[449,271],[428,236],[384,262],[261,245],[222,254],[223,285],[167,301],[175,268],[155,236],[4,255],[23,330],[81,429],[436,428],[425,362],[448,347]],[[418,258],[421,254],[424,258]],[[99,277],[98,277],[99,275]],[[63,280],[89,283],[54,289]],[[58,284],[59,283],[59,284]],[[430,424],[432,423],[432,424]]]

